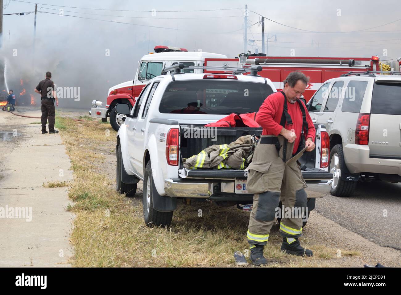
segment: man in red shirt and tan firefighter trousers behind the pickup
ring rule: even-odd
[[[282,208],[278,208],[280,199],[284,212],[291,212],[290,218],[288,214],[281,216],[281,250],[299,256],[313,255],[298,241],[302,234],[300,213],[305,214],[307,210],[306,183],[298,159],[304,147],[306,151],[315,148],[316,134],[306,106],[299,100],[308,80],[299,71],[290,73],[283,90],[269,95],[257,112],[256,122],[263,132],[247,168],[247,190],[254,193],[247,240],[251,260],[256,265],[267,264],[263,247],[269,239],[276,212],[282,212]]]

